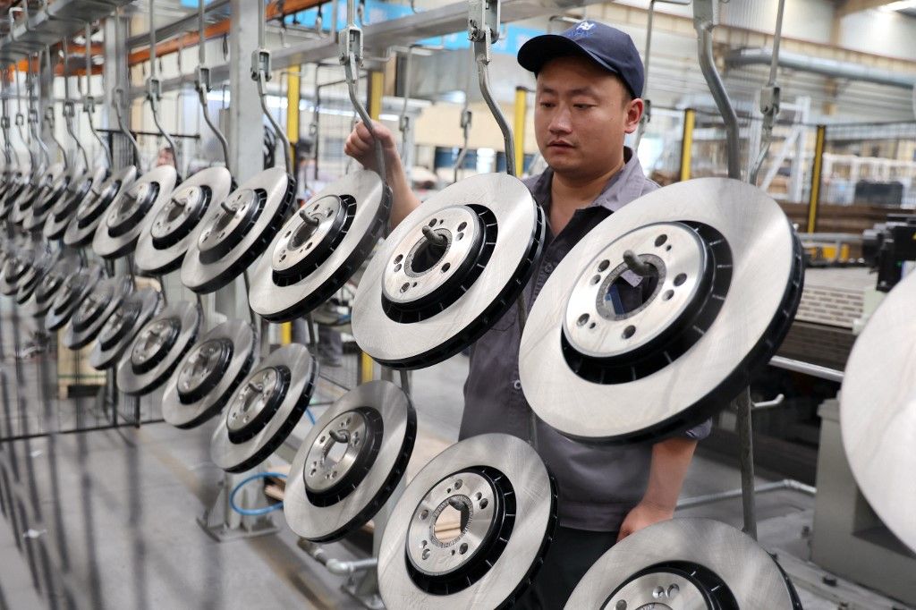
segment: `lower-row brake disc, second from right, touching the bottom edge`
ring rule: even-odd
[[[453,524],[441,522],[443,512],[460,517],[448,537],[442,528]],[[460,441],[414,477],[388,517],[378,551],[382,599],[389,608],[513,605],[540,568],[556,519],[556,484],[527,442],[507,434]]]

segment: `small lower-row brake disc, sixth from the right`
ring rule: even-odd
[[[201,326],[196,303],[169,304],[136,333],[117,365],[117,387],[131,396],[161,386],[191,349]]]

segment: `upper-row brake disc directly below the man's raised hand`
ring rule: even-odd
[[[378,174],[359,169],[293,214],[257,262],[248,299],[269,321],[289,321],[330,299],[382,237],[391,198]]]

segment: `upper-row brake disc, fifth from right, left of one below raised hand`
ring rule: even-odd
[[[296,194],[296,180],[271,168],[246,180],[202,223],[181,263],[194,292],[221,289],[255,262],[277,234]]]

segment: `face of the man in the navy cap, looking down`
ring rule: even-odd
[[[620,162],[624,135],[639,125],[642,100],[583,57],[551,60],[538,73],[535,135],[547,164],[570,178],[594,178]]]

